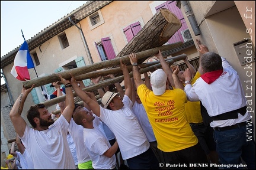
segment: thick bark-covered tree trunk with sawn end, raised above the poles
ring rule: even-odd
[[[168,9],[160,9],[155,15],[144,25],[132,40],[126,44],[123,50],[117,55],[121,57],[130,53],[138,53],[140,51],[164,45],[181,27],[180,19],[176,17]],[[142,57],[138,63],[142,63],[148,56]]]

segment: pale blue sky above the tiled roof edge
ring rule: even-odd
[[[1,1],[1,57],[86,2]]]

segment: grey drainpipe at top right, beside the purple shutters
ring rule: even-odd
[[[188,5],[188,1],[181,1],[181,4],[183,5],[185,14],[187,15],[188,21],[190,22],[190,25],[194,31],[194,34],[200,35],[201,31],[199,30],[199,26],[197,25],[196,18],[194,17],[194,14],[191,12],[191,8]]]

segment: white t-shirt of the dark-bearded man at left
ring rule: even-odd
[[[75,169],[69,149],[69,123],[63,115],[46,130],[35,130],[26,126],[20,137],[34,162],[34,169]]]

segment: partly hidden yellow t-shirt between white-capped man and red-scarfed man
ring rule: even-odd
[[[196,80],[201,76],[197,71],[196,75],[191,80],[193,85]],[[200,102],[190,102],[185,103],[185,113],[187,115],[188,123],[202,123],[203,117],[201,116]]]

